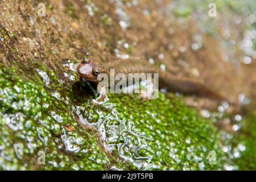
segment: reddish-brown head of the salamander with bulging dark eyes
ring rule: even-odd
[[[97,76],[100,73],[105,72],[104,68],[101,67],[101,64],[97,63],[92,57],[84,57],[76,71],[78,72],[79,77],[95,83],[97,82]]]

